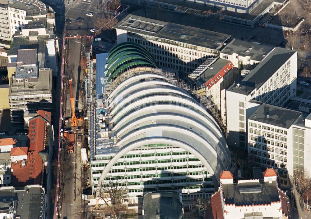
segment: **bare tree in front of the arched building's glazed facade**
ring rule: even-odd
[[[113,218],[125,207],[123,204],[123,191],[124,189],[120,186],[118,180],[110,180],[107,184],[100,181],[97,185],[96,196],[103,200],[101,205],[107,208]]]

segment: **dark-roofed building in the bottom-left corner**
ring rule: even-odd
[[[0,218],[49,218],[46,204],[45,190],[40,185],[0,188]]]

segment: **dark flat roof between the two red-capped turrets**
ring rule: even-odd
[[[241,193],[241,189],[259,188],[261,192]],[[234,184],[222,184],[226,204],[236,206],[271,204],[279,201],[279,193],[276,181],[272,183],[264,182],[242,182]]]

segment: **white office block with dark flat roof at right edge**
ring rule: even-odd
[[[280,175],[311,172],[311,114],[261,104],[248,118],[248,155],[255,165]]]

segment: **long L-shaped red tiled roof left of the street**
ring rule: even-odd
[[[45,149],[47,120],[46,118],[42,118],[42,112],[45,111],[38,110],[37,112],[39,115],[29,120],[29,146],[26,166],[21,166],[21,161],[12,163],[13,186],[19,187],[25,185],[41,184],[41,173],[44,168],[44,162],[38,152]]]

